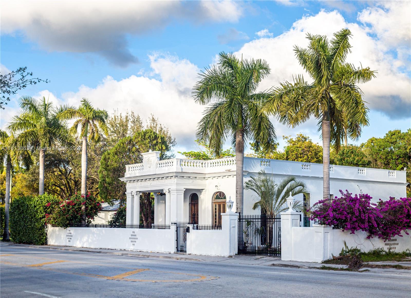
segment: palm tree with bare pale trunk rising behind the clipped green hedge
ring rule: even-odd
[[[58,143],[70,144],[72,138],[65,122],[57,119],[58,110],[44,96],[40,100],[23,96],[18,103],[23,111],[12,117],[7,129],[19,133],[16,138],[19,147],[30,148],[31,151],[39,149],[39,195],[43,195],[46,150]]]

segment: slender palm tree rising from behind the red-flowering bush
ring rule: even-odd
[[[71,133],[76,133],[80,128],[80,137],[83,138],[81,147],[81,195],[87,195],[87,140],[97,143],[100,141],[101,129],[105,135],[108,134],[106,119],[109,117],[106,110],[95,109],[90,101],[86,98],[81,100],[79,108],[66,107],[58,113],[59,119],[76,119]],[[88,139],[87,139],[88,135]],[[85,205],[82,207],[85,211]],[[85,221],[85,212],[83,212],[83,220]]]

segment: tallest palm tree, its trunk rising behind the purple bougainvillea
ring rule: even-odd
[[[346,55],[351,53],[350,37],[348,29],[334,33],[330,42],[326,36],[307,34],[308,48],[294,46],[294,52],[313,82],[309,84],[298,75],[293,83],[280,83],[280,87],[272,90],[264,107],[292,127],[312,116],[319,120],[323,139],[324,199],[330,199],[330,142],[338,151],[345,130],[349,138],[357,140],[361,126],[368,125],[368,109],[356,84],[368,82],[376,72],[345,62]]]

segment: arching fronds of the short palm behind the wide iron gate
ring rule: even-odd
[[[305,183],[294,177],[284,178],[278,184],[275,183],[272,175],[266,174],[263,170],[257,177],[251,177],[245,182],[244,189],[255,193],[257,202],[254,203],[253,210],[260,208],[263,214],[268,217],[275,217],[280,212],[286,211],[286,199],[290,193],[292,196],[300,193],[307,193]],[[294,201],[293,209],[305,213],[304,205],[300,201]]]

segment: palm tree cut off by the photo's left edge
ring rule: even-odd
[[[27,150],[18,150],[16,147],[16,139],[14,135],[10,136],[0,129],[0,172],[6,164],[6,193],[5,193],[5,222],[3,241],[10,240],[9,234],[9,206],[10,206],[10,191],[11,191],[11,173],[13,167],[18,167],[20,162],[23,162],[28,168],[31,163],[30,154]]]

